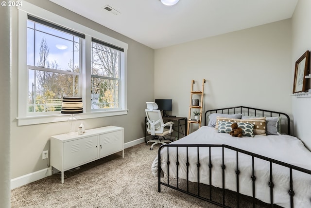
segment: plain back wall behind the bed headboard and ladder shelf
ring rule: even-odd
[[[191,79],[205,109],[250,106],[292,113],[291,19],[155,50],[155,98],[188,116]]]

